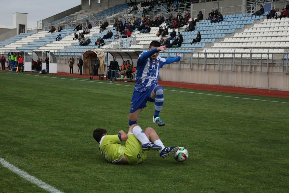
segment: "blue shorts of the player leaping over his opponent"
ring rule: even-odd
[[[143,109],[147,106],[147,101],[155,102],[155,100],[151,99],[151,92],[157,85],[152,86],[150,89],[144,92],[134,91],[131,97],[130,103],[130,113],[135,112],[137,109]]]

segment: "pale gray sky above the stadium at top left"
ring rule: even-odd
[[[80,5],[81,0],[1,0],[0,28],[13,28],[13,13],[28,13],[27,27],[36,28],[37,21]]]

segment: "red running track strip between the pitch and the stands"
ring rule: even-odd
[[[58,72],[54,74],[56,76],[68,76],[68,77],[78,77],[78,78],[87,78],[92,75],[79,75],[73,74],[70,76],[69,73]],[[98,76],[93,76],[93,79],[98,80]],[[104,79],[105,81],[105,79]],[[134,83],[134,82],[127,82]],[[268,89],[257,89],[257,88],[244,88],[244,87],[234,87],[234,86],[220,86],[220,85],[206,85],[206,84],[194,84],[194,83],[181,83],[181,82],[170,82],[170,81],[159,81],[159,85],[168,86],[168,87],[177,87],[177,88],[187,88],[194,90],[208,90],[216,92],[226,92],[226,93],[236,93],[236,94],[249,94],[249,95],[258,95],[266,97],[282,97],[289,98],[289,91],[280,91],[280,90],[268,90]]]

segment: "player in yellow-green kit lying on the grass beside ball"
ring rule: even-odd
[[[101,155],[111,163],[139,164],[147,159],[147,150],[159,150],[160,156],[165,158],[178,148],[165,147],[153,128],[143,132],[136,124],[129,127],[128,134],[121,130],[117,135],[109,135],[107,130],[99,128],[93,131],[93,137]],[[126,141],[125,145],[119,144],[121,141]]]

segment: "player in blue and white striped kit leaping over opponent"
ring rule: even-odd
[[[138,57],[136,75],[136,85],[134,93],[131,97],[131,107],[129,114],[129,126],[137,124],[138,116],[147,101],[155,103],[155,113],[153,115],[153,123],[164,126],[165,123],[159,117],[160,111],[164,103],[164,89],[158,85],[159,70],[165,64],[180,61],[181,54],[177,54],[175,58],[162,58],[160,51],[165,51],[165,46],[160,46],[158,41],[152,41],[149,45],[149,51],[140,54]]]

